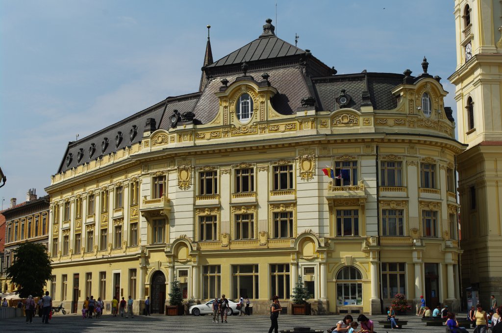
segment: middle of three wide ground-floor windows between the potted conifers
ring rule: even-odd
[[[232,265],[232,297],[259,298],[258,265]]]

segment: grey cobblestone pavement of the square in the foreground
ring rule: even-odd
[[[326,329],[335,325],[341,319],[341,315],[320,315],[320,316],[293,316],[281,315],[279,317],[279,330],[292,329],[294,326],[310,326],[312,329]],[[465,317],[465,315],[459,315]],[[395,332],[397,329],[383,328],[377,321],[385,320],[386,316],[371,316],[375,321],[375,331]],[[415,315],[402,316],[402,320],[408,320],[408,325],[404,326],[403,331],[407,332],[438,332],[444,333],[445,326],[433,327],[425,326],[420,318]],[[38,316],[33,318],[32,324],[26,324],[24,317],[17,317],[0,321],[0,327],[4,332],[195,332],[208,333],[217,331],[218,333],[266,333],[270,327],[270,318],[267,315],[252,316],[232,316],[228,317],[228,323],[212,323],[212,316],[135,316],[134,318],[113,317],[110,314],[103,315],[100,319],[82,319],[77,314],[55,314],[49,321],[49,324],[43,324]],[[469,328],[469,332],[473,329]]]

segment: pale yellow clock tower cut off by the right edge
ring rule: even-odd
[[[502,299],[502,6],[455,0],[462,288]]]

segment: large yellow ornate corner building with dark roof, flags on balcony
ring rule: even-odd
[[[458,308],[464,146],[440,78],[425,59],[336,75],[271,22],[216,62],[208,39],[200,91],[68,145],[46,189],[56,302],[163,313],[176,276],[191,302],[267,313],[301,277],[315,313],[380,313],[398,292]]]

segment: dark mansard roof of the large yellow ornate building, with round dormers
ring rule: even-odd
[[[149,118],[155,121],[153,128],[150,127],[153,123],[150,120],[148,127],[152,129],[169,129],[169,118],[175,110],[181,115],[193,112],[194,124],[208,123],[218,112],[219,101],[215,93],[219,92],[221,79],[225,78],[228,84],[231,84],[238,77],[242,77],[244,62],[247,67],[246,75],[252,76],[255,81],[261,81],[261,75],[268,73],[271,86],[278,91],[272,99],[272,105],[283,115],[295,114],[302,99],[310,96],[316,101],[316,110],[336,111],[340,108],[336,98],[342,93],[350,96],[349,104],[344,107],[360,110],[362,105],[372,105],[375,110],[390,110],[397,106],[397,99],[391,92],[393,88],[403,83],[414,84],[424,77],[432,78],[426,74],[426,68],[424,74],[417,77],[411,76],[411,71],[404,74],[363,71],[335,75],[334,68],[315,58],[309,50],[299,49],[275,36],[271,22],[272,20],[267,20],[264,32],[258,39],[203,67],[200,92],[168,97],[87,137],[69,142],[58,173],[140,142]],[[208,37],[204,64],[211,61],[212,52]],[[425,63],[424,59],[422,65]],[[445,111],[447,118],[453,121],[451,108],[445,108]],[[132,139],[131,131],[135,132]],[[118,141],[115,140],[117,135],[121,135]],[[102,150],[105,138],[107,143]],[[90,149],[94,150],[92,155]]]

